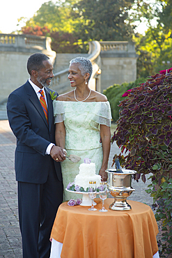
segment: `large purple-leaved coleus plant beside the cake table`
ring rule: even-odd
[[[125,169],[136,170],[135,179],[146,181],[153,173],[159,184],[172,172],[172,68],[162,70],[127,91],[112,143],[120,147],[114,156]]]

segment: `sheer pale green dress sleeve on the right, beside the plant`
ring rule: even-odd
[[[100,102],[100,108],[94,109],[94,121],[100,125],[111,126],[111,107],[109,101]]]

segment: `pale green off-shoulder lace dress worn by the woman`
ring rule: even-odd
[[[64,200],[81,198],[67,192],[65,188],[79,173],[79,165],[84,158],[95,163],[95,172],[99,174],[102,166],[102,143],[100,143],[100,124],[111,126],[111,108],[109,102],[72,102],[54,100],[55,123],[64,121],[65,149],[70,154],[81,157],[77,163],[68,158],[61,162],[64,186]]]

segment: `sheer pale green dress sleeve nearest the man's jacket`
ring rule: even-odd
[[[53,100],[54,123],[61,123],[65,120],[65,109],[63,101]]]

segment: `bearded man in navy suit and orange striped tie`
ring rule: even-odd
[[[30,79],[10,93],[7,103],[10,127],[17,137],[19,226],[23,257],[48,258],[49,236],[63,198],[58,161],[63,161],[65,155],[54,144],[53,106],[51,90],[47,88],[54,77],[52,62],[45,54],[32,54],[27,70]]]

